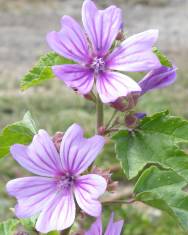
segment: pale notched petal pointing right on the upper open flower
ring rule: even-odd
[[[110,69],[142,72],[161,66],[152,46],[158,38],[158,30],[148,30],[126,39],[107,58]]]

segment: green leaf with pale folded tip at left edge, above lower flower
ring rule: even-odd
[[[6,126],[0,133],[0,158],[9,154],[13,144],[28,144],[37,133],[35,122],[27,112],[22,121]]]

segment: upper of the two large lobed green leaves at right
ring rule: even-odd
[[[112,138],[117,158],[129,179],[147,164],[173,169],[188,182],[188,155],[179,143],[188,143],[188,121],[161,112],[146,117],[134,132],[121,130]]]

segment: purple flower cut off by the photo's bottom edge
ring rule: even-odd
[[[114,213],[111,214],[110,221],[106,228],[104,235],[120,235],[123,227],[123,220],[114,222]],[[92,224],[91,228],[85,232],[84,235],[102,235],[102,220],[99,217],[95,223]]]

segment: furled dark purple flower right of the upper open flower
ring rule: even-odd
[[[172,68],[162,66],[146,74],[139,82],[142,88],[142,95],[148,91],[161,89],[174,83],[176,80],[176,70],[177,68],[175,66]]]

